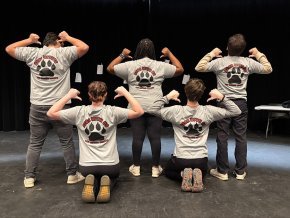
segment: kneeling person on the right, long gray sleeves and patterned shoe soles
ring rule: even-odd
[[[224,108],[200,105],[198,101],[204,90],[201,79],[190,79],[184,86],[186,105],[163,107],[170,100],[179,101],[179,93],[173,90],[149,108],[149,112],[172,123],[175,148],[164,173],[170,179],[182,181],[182,191],[203,191],[203,180],[208,170],[207,139],[210,124],[241,113],[239,107],[217,89],[211,90],[207,101],[217,100]]]

